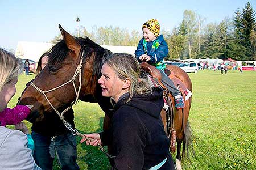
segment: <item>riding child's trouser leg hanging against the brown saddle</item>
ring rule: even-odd
[[[174,85],[174,82],[172,82],[172,79],[170,79],[166,73],[164,73],[164,70],[159,69],[160,73],[162,74],[162,83],[164,84],[164,86],[166,86],[166,88],[171,92],[172,96],[177,96],[180,95],[180,91],[176,88],[176,86]]]

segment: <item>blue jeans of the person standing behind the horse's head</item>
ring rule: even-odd
[[[48,137],[32,131],[35,142],[34,159],[43,170],[52,170],[55,152],[61,169],[79,169],[76,163],[76,137],[72,133]]]

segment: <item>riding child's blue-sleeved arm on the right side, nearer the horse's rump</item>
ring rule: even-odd
[[[147,55],[151,58],[148,63],[158,63],[162,61],[164,57],[167,57],[168,51],[168,45],[163,39],[162,42],[160,42],[158,49],[156,49],[154,52],[147,53]]]

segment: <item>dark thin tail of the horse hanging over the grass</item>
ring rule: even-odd
[[[189,160],[191,162],[190,156],[195,156],[195,150],[193,147],[193,133],[189,121],[187,121],[187,125],[184,131],[183,138],[183,148],[182,148],[182,159]]]

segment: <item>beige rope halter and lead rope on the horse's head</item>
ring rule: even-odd
[[[83,56],[83,55],[82,55],[82,56]],[[82,87],[82,83],[81,83],[81,82],[82,82],[82,79],[81,79],[82,60],[83,60],[83,58],[81,58],[79,65],[77,65],[76,71],[75,71],[73,77],[71,78],[71,80],[69,80],[69,81],[66,82],[66,83],[61,84],[60,86],[57,86],[57,87],[55,87],[55,88],[52,88],[51,90],[43,91],[43,90],[41,90],[39,87],[37,87],[33,82],[31,82],[30,84],[31,84],[31,86],[34,87],[37,91],[39,91],[40,94],[44,95],[44,97],[45,97],[46,100],[48,101],[49,105],[51,105],[52,109],[53,109],[53,110],[58,114],[58,116],[60,117],[60,120],[63,121],[63,124],[65,125],[65,127],[66,127],[68,130],[70,130],[73,135],[78,135],[78,136],[80,136],[80,137],[86,139],[86,141],[92,142],[92,141],[94,141],[94,139],[89,138],[89,137],[85,137],[85,135],[81,134],[77,129],[73,129],[72,126],[71,126],[71,124],[69,124],[69,123],[65,120],[65,117],[63,116],[63,114],[64,114],[65,112],[67,112],[68,109],[72,108],[72,106],[73,106],[74,104],[76,104],[76,103],[77,103],[77,100],[79,99],[79,93],[80,93],[80,90],[81,90],[81,87]],[[78,79],[79,79],[79,88],[78,88],[78,90],[76,90],[76,85],[75,85],[75,79],[76,79],[76,76],[77,76],[77,75],[79,75],[79,76],[78,76]],[[56,89],[58,89],[58,88],[60,88],[60,87],[63,87],[63,86],[65,86],[66,84],[68,84],[68,83],[70,83],[70,82],[72,82],[72,84],[73,84],[73,87],[74,87],[74,90],[75,90],[75,93],[76,93],[76,100],[72,101],[71,105],[70,105],[67,109],[65,109],[63,112],[60,113],[59,111],[57,111],[57,109],[55,109],[55,107],[53,107],[51,101],[49,101],[49,99],[48,99],[48,97],[46,96],[46,94],[47,94],[48,92],[54,91],[54,90],[56,90]],[[101,149],[101,151],[104,152],[104,154],[105,154],[106,156],[108,156],[109,158],[115,159],[116,156],[109,155],[109,154],[104,150],[104,148],[100,145],[100,143],[98,143],[97,146]]]

